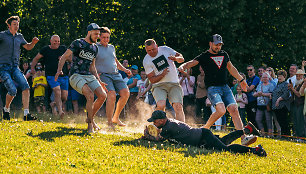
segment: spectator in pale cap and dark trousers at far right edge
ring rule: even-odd
[[[293,114],[295,135],[298,137],[305,137],[305,120],[303,114],[305,99],[304,95],[301,95],[299,92],[304,83],[304,74],[305,72],[303,70],[298,69],[295,74],[295,87],[293,87],[292,84],[289,84],[289,90],[291,92],[291,96],[293,97],[293,104],[290,106],[290,110]]]

